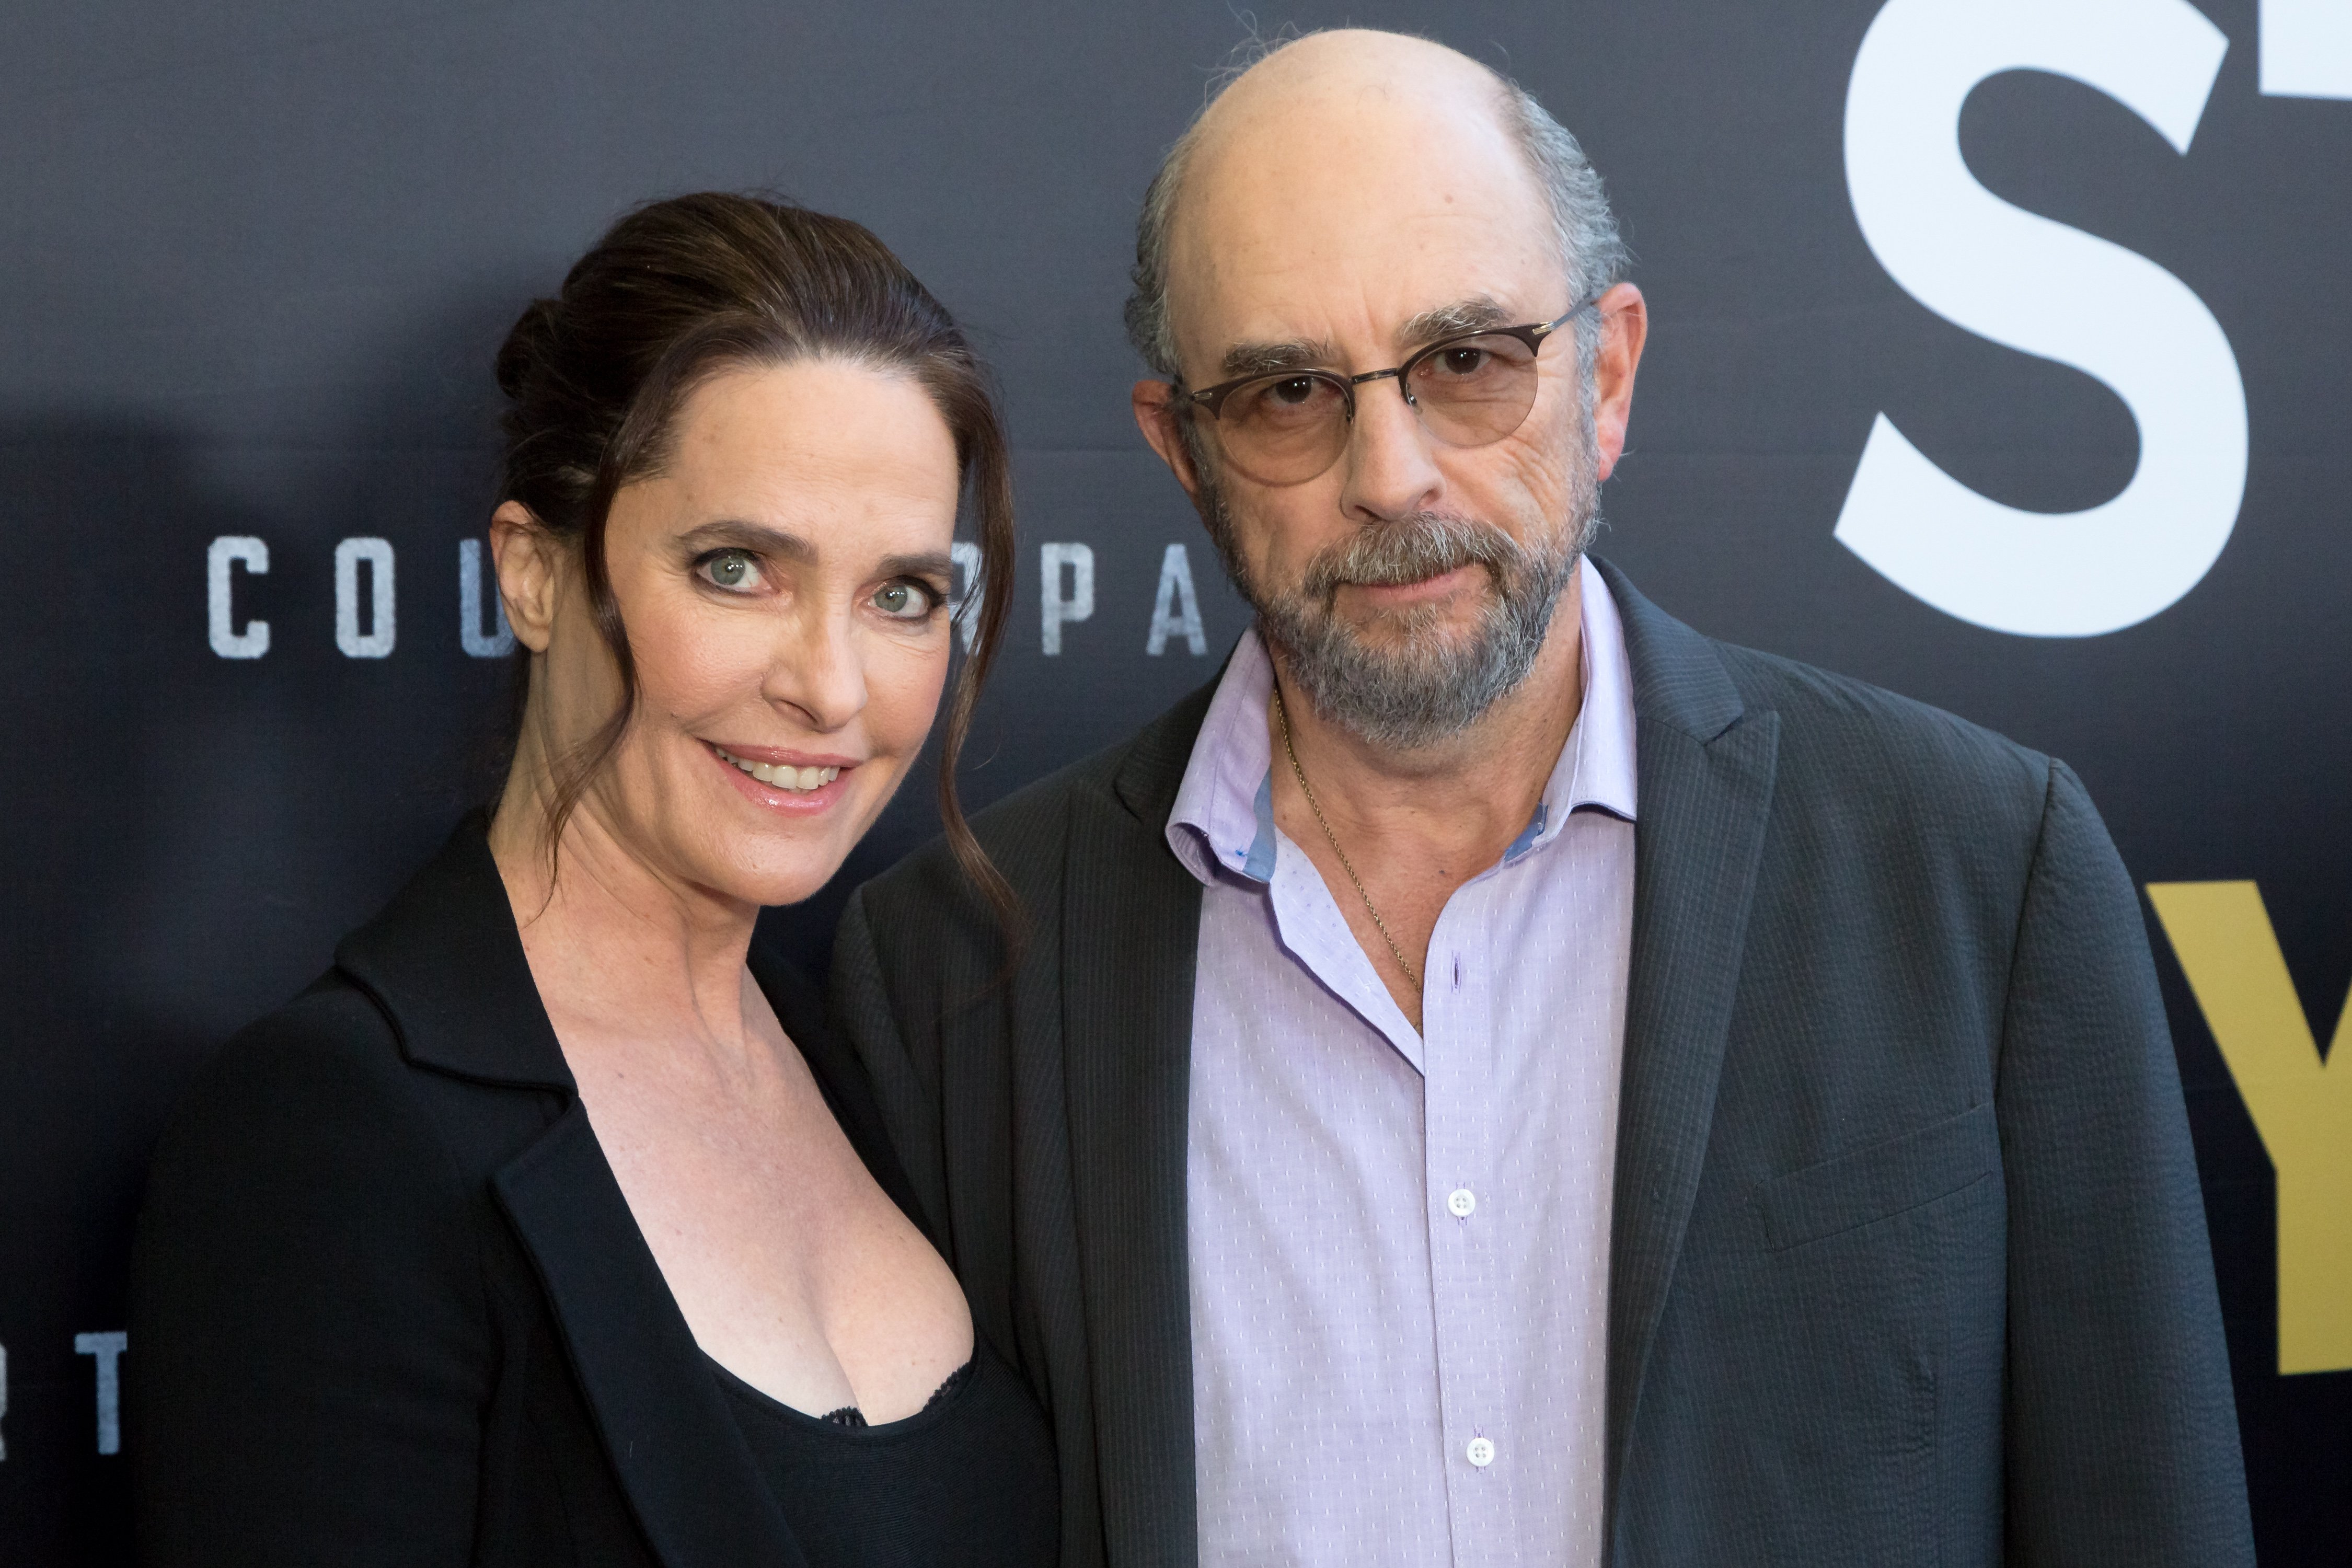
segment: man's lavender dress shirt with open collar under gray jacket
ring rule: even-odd
[[[1602,1561],[1635,715],[1583,562],[1585,696],[1536,820],[1437,919],[1414,1032],[1272,820],[1242,639],[1169,844],[1202,879],[1188,1251],[1202,1563]]]

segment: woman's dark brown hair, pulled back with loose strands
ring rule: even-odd
[[[1011,917],[1011,886],[955,797],[955,762],[1014,592],[1011,473],[988,371],[946,308],[873,233],[750,195],[680,195],[630,212],[579,259],[555,299],[532,301],[499,350],[499,390],[508,400],[499,498],[520,501],[576,550],[590,611],[621,672],[612,717],[555,759],[548,851],[637,705],[637,665],[604,567],[614,496],[668,458],[694,388],[727,369],[797,360],[906,374],[955,437],[981,543],[981,604],[948,703],[938,813],[964,875]],[[529,701],[529,654],[517,658],[515,736]]]

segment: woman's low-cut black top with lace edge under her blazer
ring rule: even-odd
[[[804,1415],[717,1361],[710,1375],[811,1568],[1054,1561],[1054,1434],[988,1345],[917,1415],[880,1427],[856,1406]]]

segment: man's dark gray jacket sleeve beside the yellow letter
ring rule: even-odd
[[[2197,1157],[2138,896],[2053,764],[1997,1079],[2009,1552],[2253,1563]]]

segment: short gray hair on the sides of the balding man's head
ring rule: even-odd
[[[1127,341],[1136,346],[1136,353],[1143,355],[1143,362],[1155,374],[1171,381],[1178,371],[1176,331],[1169,324],[1169,230],[1176,219],[1176,200],[1183,193],[1192,141],[1200,136],[1200,122],[1209,113],[1209,103],[1216,103],[1242,71],[1279,54],[1294,42],[1298,40],[1244,45],[1249,59],[1218,73],[1200,115],[1192,115],[1192,125],[1185,127],[1176,146],[1160,160],[1160,172],[1143,193],[1143,214],[1136,219],[1136,270],[1129,275],[1134,294],[1127,296]],[[1552,207],[1552,230],[1559,235],[1559,256],[1569,273],[1566,303],[1595,299],[1623,280],[1628,266],[1632,266],[1632,254],[1618,235],[1616,214],[1609,212],[1609,197],[1602,193],[1602,176],[1585,162],[1585,150],[1576,143],[1576,136],[1559,120],[1552,120],[1543,103],[1536,101],[1536,94],[1501,73],[1496,73],[1494,82],[1501,99],[1496,108],[1503,118],[1503,129],[1519,146],[1519,153],[1526,155],[1526,165],[1534,169],[1536,183],[1543,186],[1543,195]],[[1597,343],[1595,317],[1578,317],[1576,348],[1581,364],[1590,362]]]

